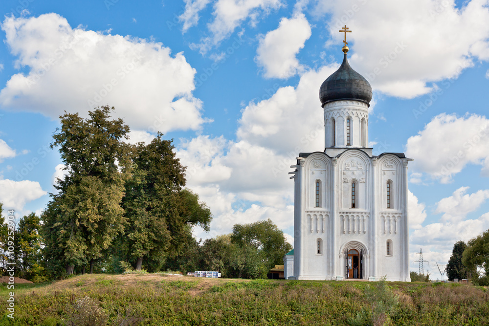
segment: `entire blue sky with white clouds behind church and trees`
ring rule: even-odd
[[[2,1],[4,208],[41,212],[61,175],[58,116],[109,104],[131,141],[175,140],[214,215],[196,237],[270,218],[291,240],[289,166],[324,148],[318,90],[347,24],[350,64],[374,89],[374,153],[414,158],[412,261],[422,247],[445,263],[489,228],[488,1],[336,2]]]

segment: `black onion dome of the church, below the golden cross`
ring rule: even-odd
[[[343,63],[338,70],[326,78],[319,88],[319,100],[323,108],[326,103],[338,100],[356,100],[364,102],[370,107],[372,87],[362,75],[348,64],[345,53]]]

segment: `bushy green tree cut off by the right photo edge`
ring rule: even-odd
[[[489,285],[489,230],[468,240],[462,263],[473,281]]]

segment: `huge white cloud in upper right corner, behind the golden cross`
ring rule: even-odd
[[[487,0],[457,8],[454,0],[316,1],[314,14],[331,14],[330,33],[340,51],[347,38],[352,66],[374,88],[412,98],[429,92],[430,82],[457,77],[477,60],[489,60]],[[471,26],[477,33],[461,33]],[[382,37],[379,37],[381,35]]]

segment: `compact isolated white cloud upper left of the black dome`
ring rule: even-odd
[[[296,58],[311,37],[311,25],[304,14],[282,18],[279,27],[260,39],[256,61],[265,68],[267,78],[289,78],[304,67]]]

